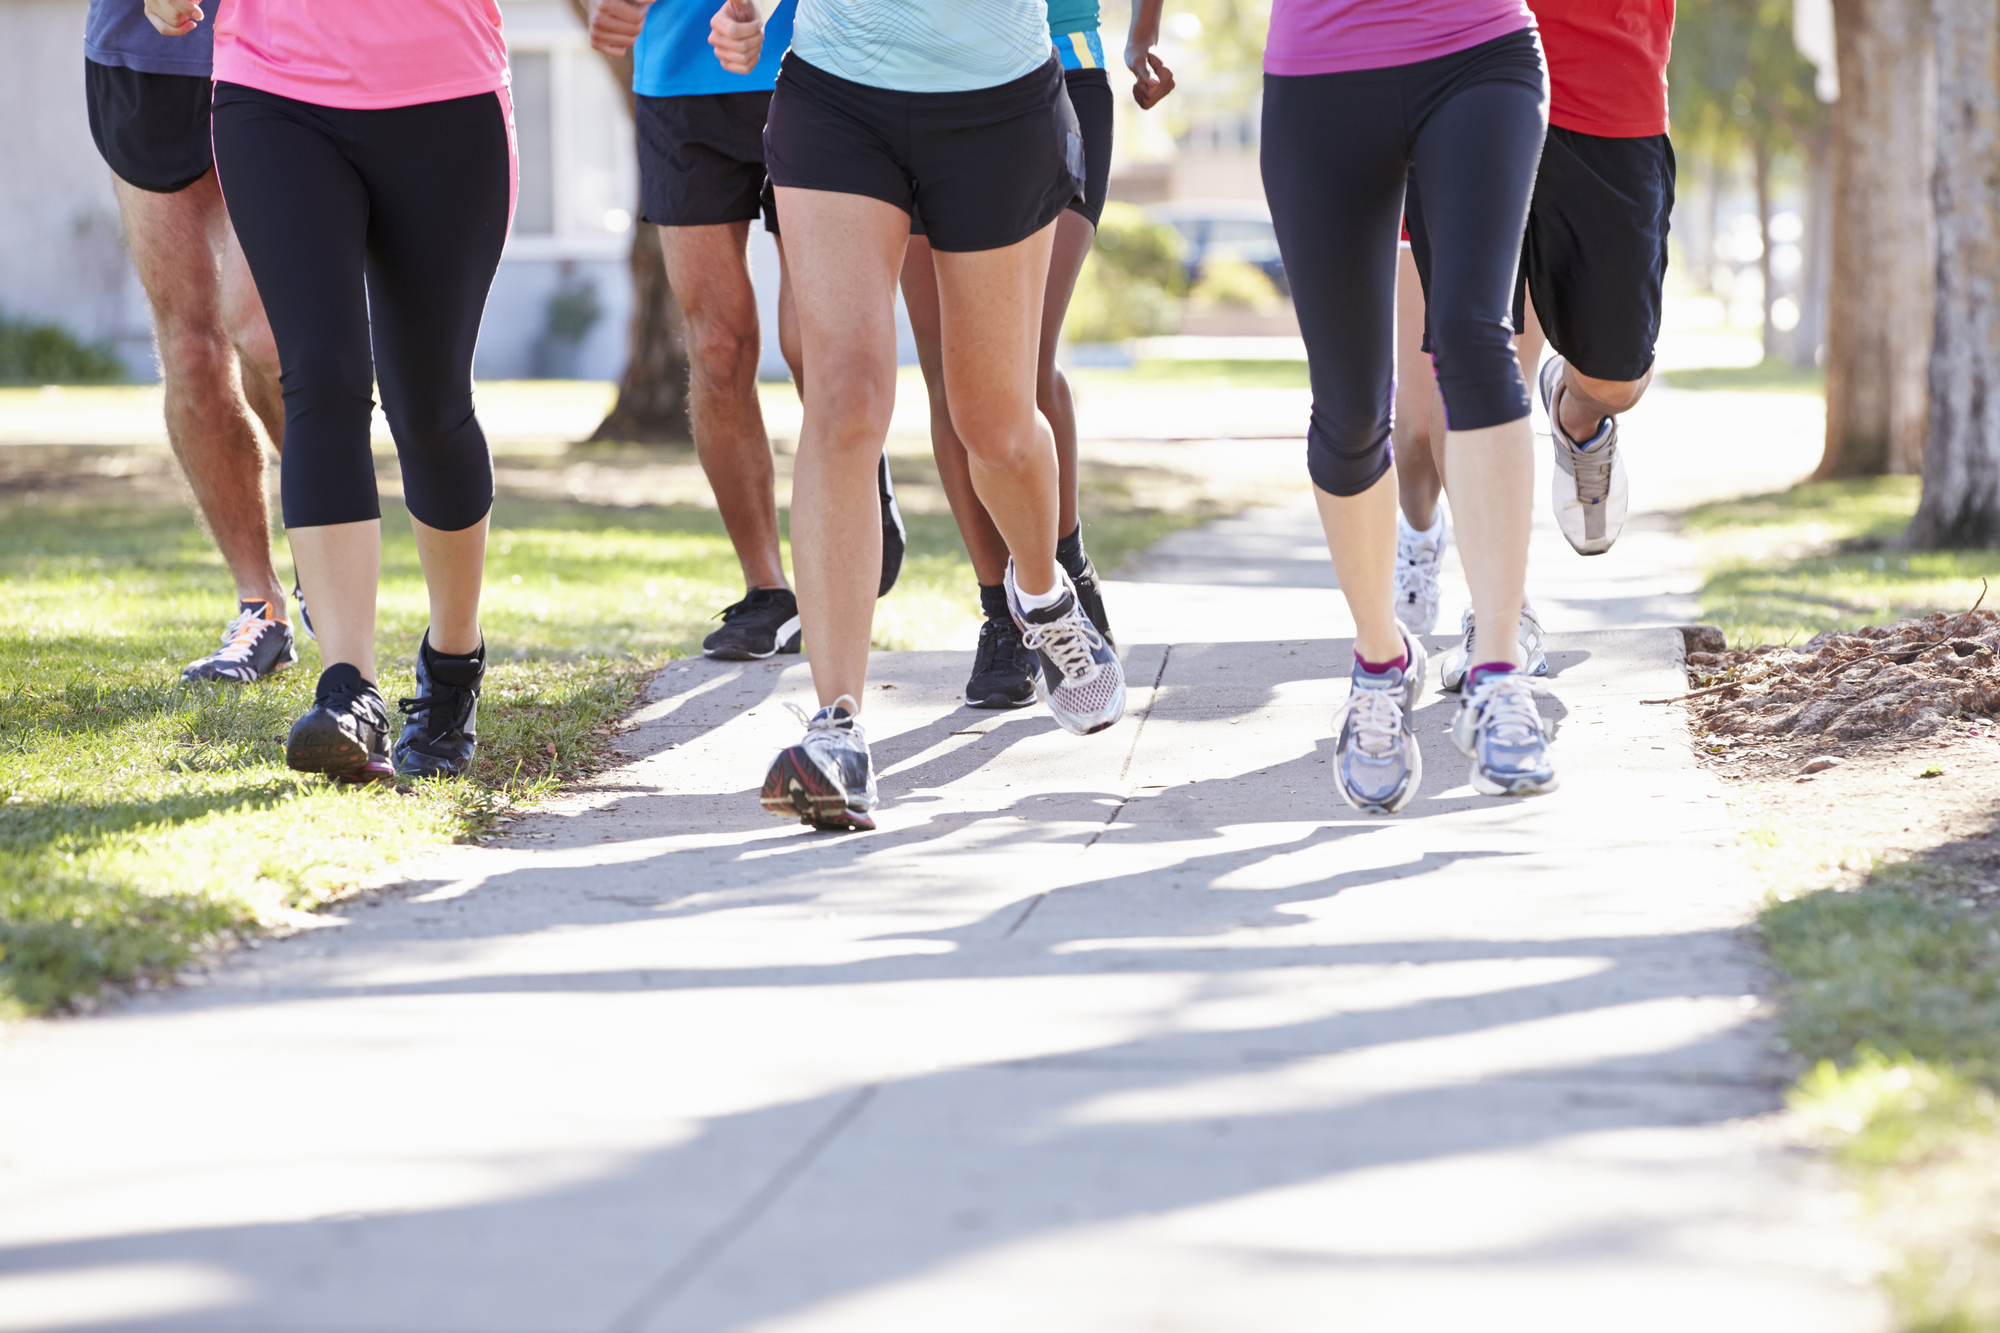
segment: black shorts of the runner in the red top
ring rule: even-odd
[[[1564,360],[1594,380],[1642,378],[1660,338],[1674,170],[1666,134],[1602,138],[1550,126],[1514,276],[1514,328],[1522,328],[1532,294],[1542,330]],[[1406,216],[1428,294],[1430,244],[1414,176]]]

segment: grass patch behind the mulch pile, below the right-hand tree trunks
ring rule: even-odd
[[[2000,584],[2000,550],[1892,548],[1918,488],[1914,476],[1810,482],[1690,510],[1702,620],[1732,644],[1758,644],[1966,610],[1980,578]]]

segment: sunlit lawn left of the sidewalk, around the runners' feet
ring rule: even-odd
[[[266,685],[180,685],[230,610],[222,562],[182,504],[48,494],[0,490],[0,1015],[170,975],[580,777],[648,675],[698,650],[742,594],[714,510],[504,494],[478,767],[348,789],[284,767],[284,733],[318,677],[310,642]],[[1120,494],[1090,480],[1090,548],[1106,570],[1198,518]],[[976,596],[956,528],[944,514],[906,520],[910,552],[876,644],[970,650]],[[400,508],[386,504],[384,530],[394,705],[410,691],[424,586]],[[290,568],[282,548],[278,564]]]

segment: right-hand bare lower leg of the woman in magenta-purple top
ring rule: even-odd
[[[1534,428],[1522,416],[1444,436],[1444,484],[1458,524],[1458,554],[1480,624],[1518,624],[1528,580],[1528,526],[1534,514]],[[1346,576],[1342,574],[1342,580]],[[1516,634],[1482,634],[1480,662],[1520,666]]]

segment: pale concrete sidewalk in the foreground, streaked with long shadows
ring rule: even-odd
[[[852,837],[756,805],[802,664],[676,664],[492,847],[12,1029],[0,1329],[1884,1329],[1678,634],[1550,648],[1564,791],[1432,695],[1394,821],[1338,640],[1130,646],[1090,739],[882,654]]]

